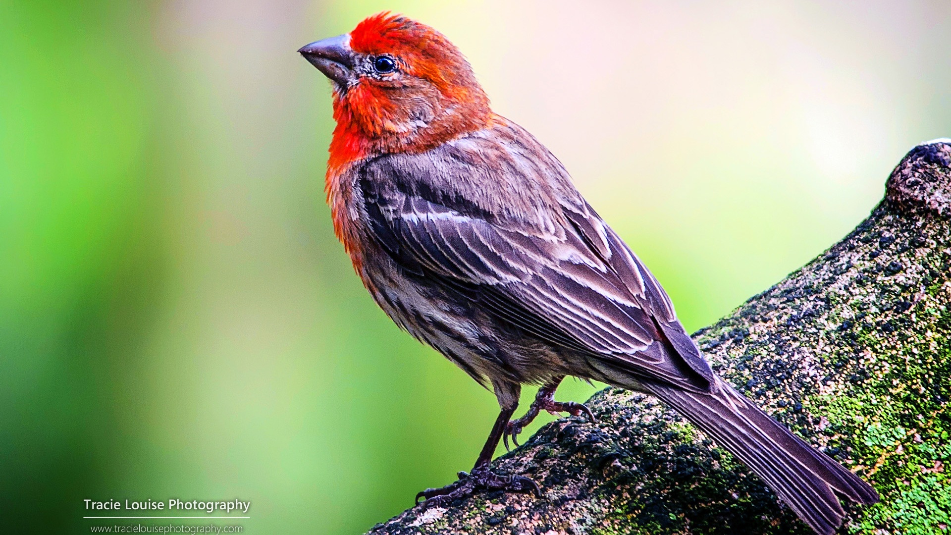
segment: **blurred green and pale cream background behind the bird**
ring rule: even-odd
[[[374,306],[323,204],[295,50],[378,10],[456,42],[689,329],[951,135],[946,0],[0,1],[3,531],[178,497],[359,533],[471,466],[494,397]]]

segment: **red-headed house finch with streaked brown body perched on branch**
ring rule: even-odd
[[[470,473],[420,492],[534,490],[493,473],[503,437],[558,403],[567,375],[650,393],[741,459],[818,533],[871,486],[710,369],[670,298],[532,134],[493,113],[442,34],[380,13],[299,50],[333,82],[327,201],[363,285],[390,318],[482,386],[501,411]],[[540,385],[511,420],[520,386]]]

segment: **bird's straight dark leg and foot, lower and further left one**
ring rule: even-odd
[[[459,479],[456,483],[441,488],[427,488],[419,492],[417,494],[417,504],[420,498],[425,498],[426,501],[423,503],[425,507],[447,505],[455,500],[471,496],[478,490],[509,490],[513,492],[531,490],[535,494],[539,493],[538,485],[535,485],[534,481],[529,478],[500,476],[489,467],[492,463],[495,447],[498,446],[498,441],[502,438],[502,434],[509,424],[509,419],[512,418],[512,414],[518,406],[517,400],[516,394],[514,404],[508,407],[503,406],[498,413],[495,426],[492,426],[489,438],[485,441],[485,446],[482,446],[482,451],[476,459],[476,466],[473,466],[472,472],[459,472]]]

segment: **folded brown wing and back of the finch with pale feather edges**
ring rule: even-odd
[[[375,238],[403,268],[538,339],[706,390],[712,371],[650,271],[557,160],[514,133],[365,164],[357,181]]]

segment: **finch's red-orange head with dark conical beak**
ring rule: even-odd
[[[462,53],[402,15],[378,13],[298,51],[333,82],[336,150],[360,152],[348,157],[429,149],[491,121]]]

